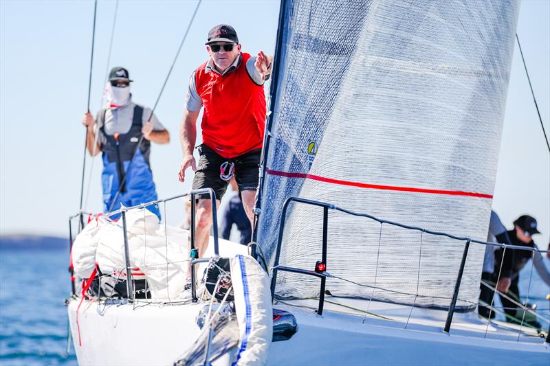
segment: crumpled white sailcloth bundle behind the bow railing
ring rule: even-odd
[[[130,264],[145,275],[153,301],[175,299],[184,289],[188,265],[188,231],[159,225],[147,209],[126,213]],[[92,220],[74,242],[72,258],[75,274],[91,275],[99,266],[105,275],[126,278],[122,222]]]

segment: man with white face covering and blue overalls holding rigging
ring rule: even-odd
[[[89,111],[82,120],[88,129],[89,154],[95,156],[102,152],[105,213],[120,209],[121,204],[129,207],[157,199],[149,162],[151,141],[170,142],[168,130],[155,115],[151,116],[151,109],[132,102],[132,81],[124,67],[113,67],[105,88],[104,108],[95,120]],[[147,208],[160,218],[157,207]]]

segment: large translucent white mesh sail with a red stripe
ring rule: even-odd
[[[291,196],[484,240],[516,1],[286,1],[259,221],[268,261]],[[330,211],[333,295],[449,306],[465,242]],[[293,203],[281,265],[321,259],[322,209]],[[458,308],[476,306],[484,247],[470,246]],[[281,272],[281,296],[319,280]]]

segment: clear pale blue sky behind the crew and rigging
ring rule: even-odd
[[[129,69],[135,102],[153,106],[196,1],[120,1],[111,66]],[[203,1],[155,113],[170,130],[168,146],[153,146],[159,196],[190,189],[177,181],[179,120],[190,73],[207,59],[212,25],[230,23],[245,52],[272,54],[279,3]],[[91,110],[100,104],[115,1],[98,2]],[[87,107],[93,1],[0,1],[0,233],[64,236],[78,210]],[[518,34],[542,119],[550,133],[550,1],[522,1]],[[100,159],[87,158],[86,207],[100,211]],[[494,208],[507,227],[520,214],[539,221],[550,238],[550,155],[516,46],[509,84]],[[168,205],[168,223],[183,218]]]

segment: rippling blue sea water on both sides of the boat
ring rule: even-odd
[[[549,264],[548,260],[545,260]],[[77,365],[67,347],[68,249],[0,249],[0,365]],[[527,295],[531,265],[520,273]],[[536,271],[530,301],[550,319],[550,288]]]

